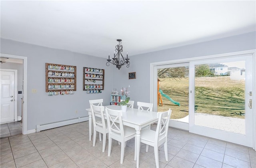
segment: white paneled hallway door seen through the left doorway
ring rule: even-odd
[[[0,123],[15,121],[14,119],[14,71],[0,71]]]

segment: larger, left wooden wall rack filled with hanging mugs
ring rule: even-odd
[[[76,91],[76,66],[45,63],[45,91],[62,90]]]

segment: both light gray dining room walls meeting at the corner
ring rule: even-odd
[[[65,50],[51,49],[26,43],[1,39],[1,53],[28,57],[28,130],[38,124],[87,116],[89,99],[104,99],[108,105],[112,88],[118,91],[130,85],[131,100],[150,101],[150,63],[190,57],[256,49],[256,32],[130,56],[130,67],[118,70],[106,67],[106,58],[93,57]],[[77,66],[77,91],[74,95],[47,96],[45,92],[45,63]],[[101,94],[82,91],[83,67],[105,69],[105,88]],[[136,79],[128,79],[129,72],[136,72]],[[32,93],[37,89],[37,93]],[[134,103],[134,107],[137,107]],[[78,110],[78,114],[75,111]]]

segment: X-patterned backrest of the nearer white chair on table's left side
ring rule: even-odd
[[[108,123],[108,133],[113,136],[124,138],[122,110],[105,109]]]

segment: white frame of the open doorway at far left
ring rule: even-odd
[[[23,116],[22,134],[27,134],[27,57],[0,53],[1,57],[23,59]]]

